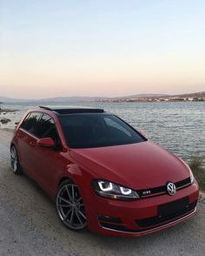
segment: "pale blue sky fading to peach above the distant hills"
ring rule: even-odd
[[[0,0],[0,96],[195,91],[204,0]]]

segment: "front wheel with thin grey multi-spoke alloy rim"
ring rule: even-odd
[[[83,198],[75,183],[65,180],[56,194],[56,212],[65,226],[81,230],[87,226]]]

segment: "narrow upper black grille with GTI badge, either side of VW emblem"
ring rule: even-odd
[[[188,185],[191,185],[191,180],[190,180],[190,178],[182,179],[181,181],[175,182],[174,184],[175,184],[176,189],[180,190]],[[141,198],[155,197],[157,195],[167,193],[167,185],[137,190],[137,193],[139,194],[139,196]]]

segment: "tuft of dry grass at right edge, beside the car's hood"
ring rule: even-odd
[[[205,168],[203,167],[203,158],[200,155],[194,155],[191,157],[188,165],[194,173],[200,189],[205,192]]]

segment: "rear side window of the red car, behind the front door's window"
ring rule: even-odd
[[[24,120],[23,124],[21,125],[21,128],[23,128],[26,131],[29,131],[30,133],[35,134],[36,125],[41,117],[40,112],[31,112]]]

